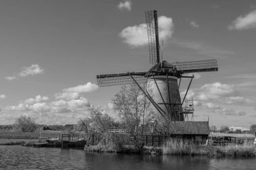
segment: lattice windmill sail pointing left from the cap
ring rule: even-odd
[[[133,76],[133,78],[137,81],[137,83],[147,82],[147,78],[145,77],[146,71],[97,75],[97,81],[100,87],[111,86],[111,85],[127,85],[127,84],[134,83],[130,75]]]

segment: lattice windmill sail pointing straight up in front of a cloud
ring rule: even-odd
[[[148,28],[148,47],[150,50],[150,63],[152,65],[156,65],[158,62],[160,62],[158,14],[157,11],[146,11],[145,14]]]

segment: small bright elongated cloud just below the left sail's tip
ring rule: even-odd
[[[86,93],[86,92],[96,91],[97,89],[98,89],[98,85],[88,82],[85,85],[77,85],[76,87],[63,89],[63,91],[75,92],[75,93]]]

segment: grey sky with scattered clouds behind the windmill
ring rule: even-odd
[[[2,0],[0,124],[22,115],[76,124],[99,105],[115,117],[120,86],[96,75],[148,71],[145,11],[158,11],[163,59],[218,60],[197,73],[187,97],[194,120],[217,127],[256,124],[256,1]],[[189,80],[181,81],[184,96]]]

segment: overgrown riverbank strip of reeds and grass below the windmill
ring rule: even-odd
[[[106,153],[133,153],[142,155],[207,155],[211,157],[256,157],[255,145],[228,145],[211,146],[189,144],[188,142],[167,141],[162,147],[143,146],[138,149],[133,145],[124,145],[117,148],[113,144],[86,145],[90,152]]]

